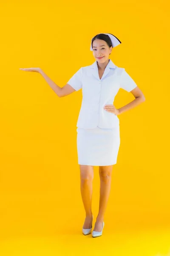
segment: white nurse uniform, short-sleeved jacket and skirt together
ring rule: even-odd
[[[82,89],[82,105],[77,120],[78,164],[109,166],[117,163],[120,146],[119,118],[107,112],[119,89],[127,92],[137,85],[125,68],[117,67],[111,59],[99,78],[97,61],[81,67],[67,82],[75,90]]]

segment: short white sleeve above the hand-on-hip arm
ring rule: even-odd
[[[122,68],[122,73],[120,75],[120,88],[126,90],[128,93],[137,87],[135,81],[129,76],[125,68]]]

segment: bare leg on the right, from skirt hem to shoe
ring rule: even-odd
[[[99,200],[99,213],[96,218],[94,231],[102,230],[102,222],[104,221],[104,214],[108,204],[108,198],[111,190],[111,173],[112,166],[99,166],[100,176],[100,200]]]

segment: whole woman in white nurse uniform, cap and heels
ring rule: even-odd
[[[90,49],[96,61],[90,66],[81,67],[64,87],[55,84],[40,68],[21,69],[40,73],[59,97],[67,96],[82,88],[82,106],[77,121],[77,153],[81,195],[86,213],[82,227],[84,235],[90,234],[92,230],[94,166],[99,166],[100,177],[99,213],[92,232],[93,237],[102,236],[104,227],[104,214],[111,189],[111,173],[117,161],[120,145],[117,116],[145,100],[142,91],[127,74],[125,68],[117,67],[109,59],[113,47],[119,44],[121,41],[108,33],[101,33],[92,38]],[[135,99],[116,109],[113,101],[119,88],[131,92]]]

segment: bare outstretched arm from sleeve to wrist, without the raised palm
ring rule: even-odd
[[[45,81],[49,84],[52,90],[57,94],[59,98],[65,97],[76,90],[71,87],[70,84],[65,84],[63,87],[59,87],[57,84],[54,83],[45,73],[43,70],[40,70],[39,73],[42,75],[42,77],[45,79]]]

